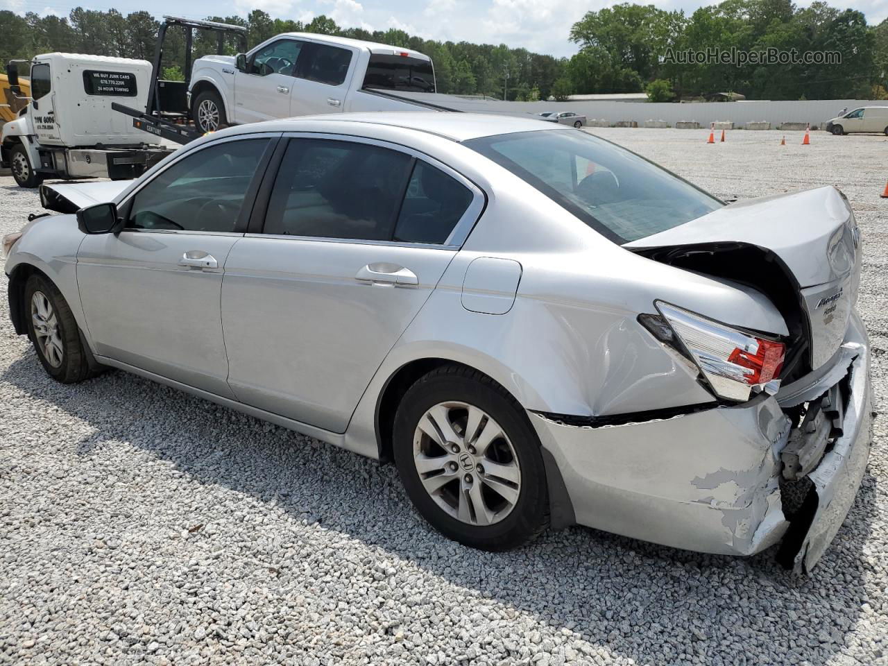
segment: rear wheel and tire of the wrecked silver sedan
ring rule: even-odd
[[[533,427],[502,386],[475,370],[444,366],[408,389],[393,453],[416,511],[454,541],[505,551],[549,524]]]

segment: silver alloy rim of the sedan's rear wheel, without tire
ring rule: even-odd
[[[503,428],[480,408],[448,401],[428,409],[416,425],[413,453],[425,491],[453,518],[493,525],[518,502],[518,456]]]

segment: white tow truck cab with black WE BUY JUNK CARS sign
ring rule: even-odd
[[[44,53],[31,62],[31,99],[4,124],[0,163],[20,186],[44,178],[136,178],[170,151],[147,143],[129,118],[112,113],[121,101],[145,109],[147,60]],[[10,82],[12,83],[12,81]]]

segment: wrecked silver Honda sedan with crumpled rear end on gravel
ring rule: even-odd
[[[4,245],[47,373],[124,369],[392,460],[460,543],[578,523],[807,571],[860,486],[834,187],[725,205],[572,127],[345,114],[42,199],[61,214]]]

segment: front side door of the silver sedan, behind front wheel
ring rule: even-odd
[[[135,190],[119,234],[87,235],[77,285],[96,353],[234,398],[219,296],[276,137],[220,139]]]

